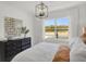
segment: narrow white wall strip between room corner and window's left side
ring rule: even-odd
[[[42,20],[33,16],[33,43],[36,44],[42,41]]]

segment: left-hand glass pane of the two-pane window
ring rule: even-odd
[[[45,38],[54,37],[54,20],[45,21]]]

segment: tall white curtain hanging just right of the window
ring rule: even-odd
[[[79,10],[75,8],[70,11],[71,22],[70,22],[70,38],[79,36]]]

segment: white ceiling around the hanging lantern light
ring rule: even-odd
[[[40,1],[4,1],[2,3],[34,13],[35,5],[39,4]],[[44,3],[48,5],[49,11],[54,11],[54,10],[74,7],[84,2],[82,1],[44,1]]]

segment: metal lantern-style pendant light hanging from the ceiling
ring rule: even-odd
[[[48,7],[45,3],[37,4],[35,8],[35,15],[39,18],[48,17]]]

